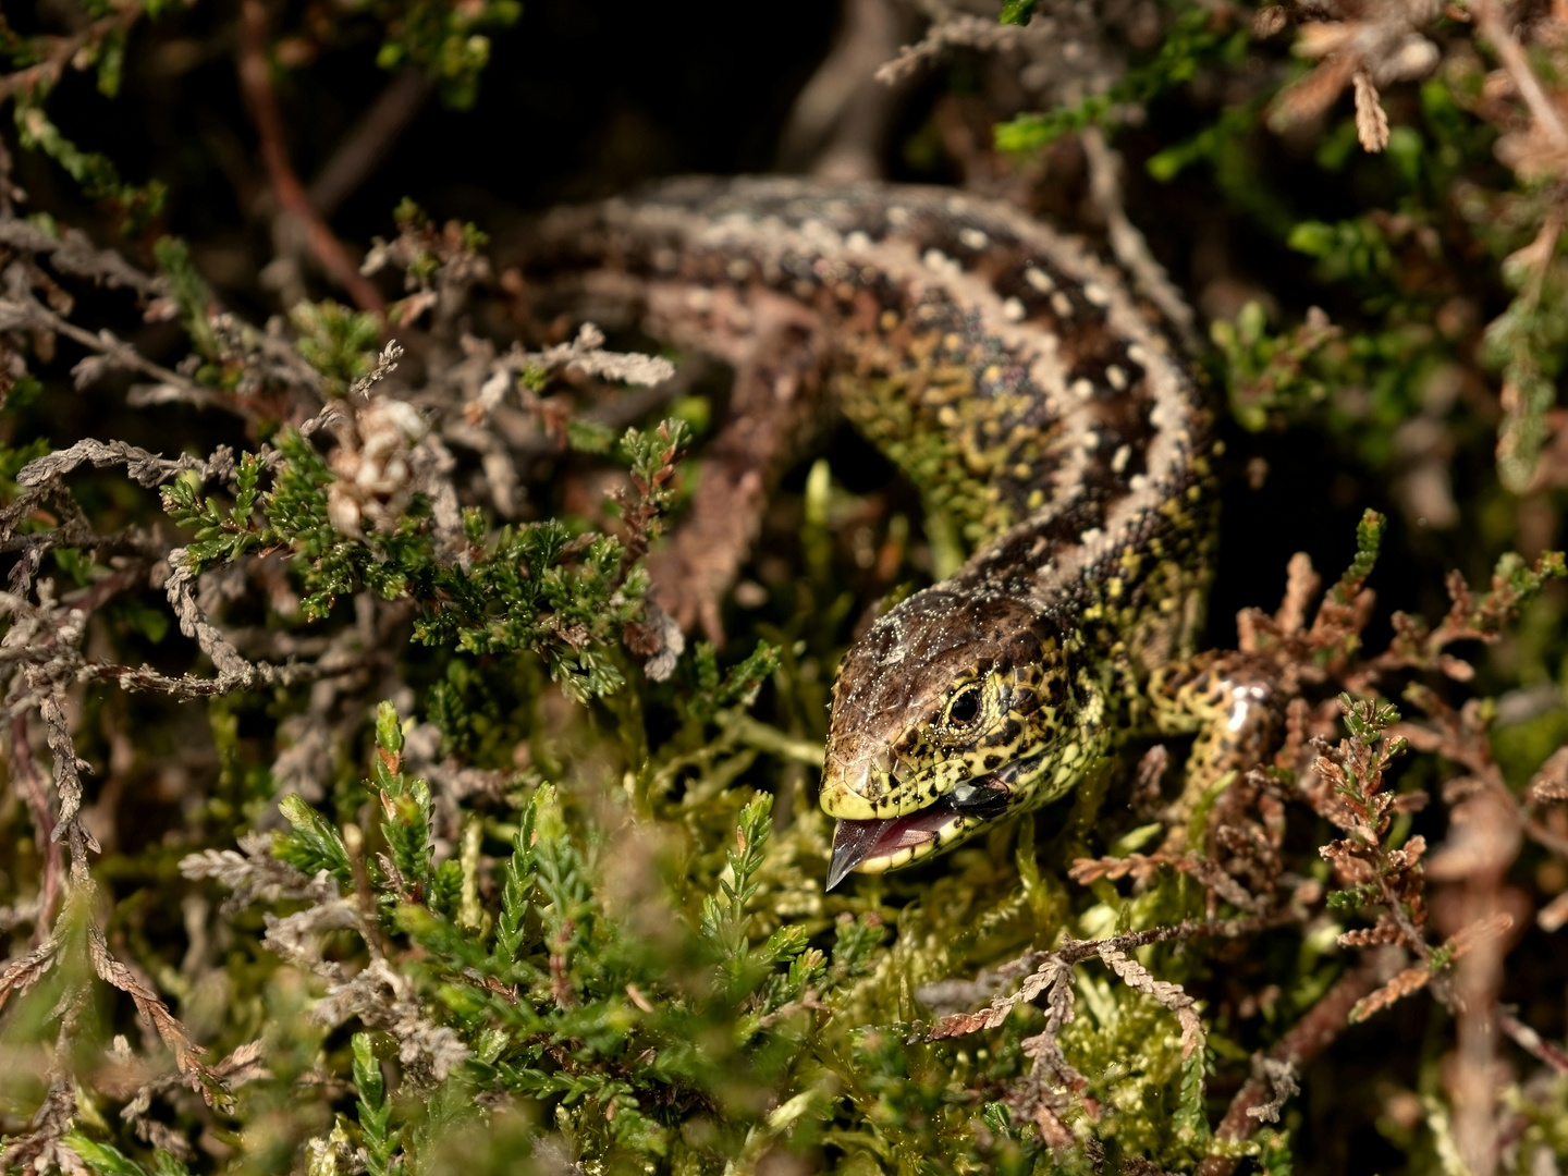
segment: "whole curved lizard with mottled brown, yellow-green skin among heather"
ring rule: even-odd
[[[789,439],[825,405],[975,550],[844,659],[829,886],[1066,793],[1129,734],[1234,728],[1200,737],[1203,781],[1256,743],[1259,699],[1218,663],[1181,670],[1209,579],[1210,417],[1120,271],[1010,205],[883,185],[682,180],[544,238],[557,278],[737,368],[693,525],[655,564],[679,619],[717,629]]]

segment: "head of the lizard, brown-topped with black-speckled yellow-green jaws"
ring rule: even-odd
[[[1066,792],[1085,748],[1062,632],[997,594],[928,588],[850,648],[833,687],[822,808],[828,889]]]

